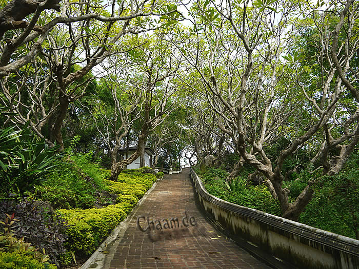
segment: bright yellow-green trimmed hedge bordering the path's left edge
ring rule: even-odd
[[[118,195],[117,204],[101,209],[57,210],[69,224],[69,239],[65,243],[67,250],[78,257],[91,255],[114,227],[126,218],[156,179],[155,175],[144,174],[139,169],[126,170],[119,174],[118,181],[103,180],[105,187]],[[69,260],[66,257],[64,259]]]

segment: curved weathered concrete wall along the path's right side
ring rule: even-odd
[[[359,268],[359,240],[224,201],[209,194],[192,169],[190,174],[213,224],[274,267]]]

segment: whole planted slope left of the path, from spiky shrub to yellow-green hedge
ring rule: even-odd
[[[24,135],[11,135],[22,146],[13,147],[11,154],[21,156],[27,145]],[[14,170],[23,170],[15,181],[22,184],[4,185],[7,189],[0,201],[2,268],[20,268],[24,263],[47,268],[53,266],[50,263],[65,266],[86,259],[163,176],[145,167],[125,170],[117,181],[111,181],[109,170],[90,161],[91,153],[74,155],[69,149],[60,159],[55,151],[46,151],[43,141],[37,147],[46,155],[42,159],[51,162],[37,165],[36,173],[41,176],[36,181],[28,176],[34,167],[31,162],[36,163],[35,157],[28,156],[38,156],[35,147],[24,157],[8,161],[0,174],[7,180]],[[6,156],[2,160],[6,162]],[[18,162],[29,165],[16,165]]]

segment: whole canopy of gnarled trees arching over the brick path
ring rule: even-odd
[[[340,173],[359,140],[354,0],[57,1],[0,4],[2,128],[111,168],[146,144],[155,165],[238,156],[286,218]],[[77,137],[77,138],[76,138]],[[137,146],[128,159],[118,150]],[[290,200],[286,174],[306,187]]]

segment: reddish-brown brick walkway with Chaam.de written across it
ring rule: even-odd
[[[191,220],[195,225],[167,229],[166,220],[162,220],[177,217],[181,226],[185,211],[188,219],[194,218],[195,222]],[[166,229],[153,231],[150,224],[150,232],[140,231],[137,217],[146,216],[146,220],[140,219],[146,229],[147,215],[149,221],[160,220]],[[158,222],[154,222],[159,228]],[[158,182],[138,207],[121,241],[112,247],[116,250],[106,258],[105,268],[269,268],[205,220],[194,202],[189,169],[182,174],[165,175]]]

